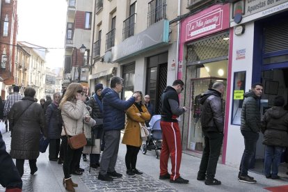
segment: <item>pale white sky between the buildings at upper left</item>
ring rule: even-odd
[[[49,49],[46,65],[63,67],[65,54],[66,0],[17,0],[17,41]]]

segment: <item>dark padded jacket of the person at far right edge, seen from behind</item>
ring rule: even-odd
[[[281,106],[268,109],[262,120],[263,144],[288,147],[288,111]]]

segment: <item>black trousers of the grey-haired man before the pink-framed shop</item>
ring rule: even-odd
[[[205,147],[202,154],[198,175],[207,176],[207,179],[214,179],[216,167],[223,143],[223,133],[203,132]]]

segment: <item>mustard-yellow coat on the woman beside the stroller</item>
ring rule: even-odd
[[[122,138],[123,144],[132,145],[135,147],[140,147],[142,145],[139,122],[144,125],[145,120],[150,120],[151,115],[145,105],[142,105],[141,109],[143,112],[140,112],[135,104],[133,104],[126,111],[127,122]],[[136,115],[136,113],[141,113],[141,116]]]

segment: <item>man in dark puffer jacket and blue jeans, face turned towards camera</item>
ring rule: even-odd
[[[256,144],[259,138],[261,127],[261,115],[259,108],[259,99],[263,93],[262,83],[252,85],[252,90],[244,94],[243,106],[241,111],[241,134],[244,137],[245,149],[240,164],[238,175],[239,182],[255,184],[253,177],[248,175],[250,162],[255,155]]]

